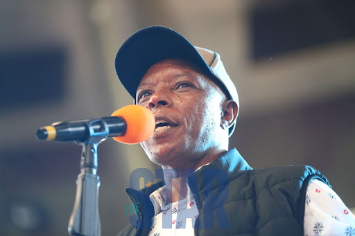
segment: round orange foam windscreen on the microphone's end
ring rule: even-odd
[[[141,143],[147,140],[155,129],[155,118],[153,114],[148,109],[138,105],[122,107],[114,111],[111,116],[120,116],[125,120],[125,134],[113,138],[120,143]]]

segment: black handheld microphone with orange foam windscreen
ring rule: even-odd
[[[147,140],[155,129],[155,118],[146,108],[128,105],[109,117],[55,122],[36,132],[38,140],[85,142],[97,132],[108,131],[105,138],[136,144]]]

